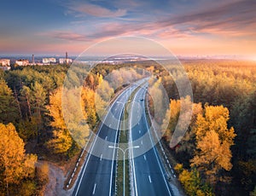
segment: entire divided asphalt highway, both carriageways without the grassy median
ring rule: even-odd
[[[130,89],[125,89],[113,101],[97,135],[90,142],[90,150],[80,171],[73,195],[112,196],[115,194],[117,152],[116,148],[109,146],[117,146],[123,107],[134,89],[144,81],[132,84]],[[154,147],[154,140],[148,129],[144,106],[147,85],[143,84],[143,88],[137,90],[129,107],[129,124],[130,126],[133,124],[130,129],[129,143],[131,195],[174,195],[166,181],[160,155]]]

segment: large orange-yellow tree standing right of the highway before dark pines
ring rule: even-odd
[[[205,115],[199,114],[195,125],[196,151],[191,166],[207,176],[215,184],[223,179],[220,170],[230,170],[232,157],[230,146],[234,144],[234,129],[227,128],[229,110],[226,107],[206,107]]]

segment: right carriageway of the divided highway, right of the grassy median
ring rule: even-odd
[[[137,91],[130,111],[131,146],[139,146],[139,151],[131,148],[134,195],[174,195],[148,130],[144,105],[146,88],[147,84]]]

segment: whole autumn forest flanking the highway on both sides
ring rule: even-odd
[[[133,62],[129,66],[145,68],[154,75],[153,88],[148,89],[152,93],[160,95],[161,91],[154,89],[158,83],[166,89],[170,104],[159,122],[167,127],[162,130],[161,142],[184,192],[256,195],[256,62],[183,60],[182,64],[193,97],[179,97],[172,76],[156,63]],[[69,66],[15,66],[0,71],[0,195],[42,195],[49,182],[45,163],[65,167],[77,159],[90,130],[96,131],[108,101],[125,88],[118,86],[125,74],[130,82],[142,78],[140,71],[116,71],[123,66],[127,67],[102,64],[90,72],[81,94],[87,124],[71,124],[68,129],[61,93]],[[171,70],[178,78],[178,70]],[[73,81],[83,79],[79,72],[73,72]],[[113,84],[104,80],[111,72],[115,76]],[[68,99],[72,105],[72,97]],[[193,112],[183,139],[173,147],[170,141],[181,101],[192,105]],[[150,97],[148,106],[154,116]],[[70,129],[77,130],[79,136],[72,135]]]

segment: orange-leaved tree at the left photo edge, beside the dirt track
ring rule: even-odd
[[[0,124],[0,176],[9,194],[9,184],[18,184],[34,174],[37,156],[26,154],[24,142],[13,124]]]

